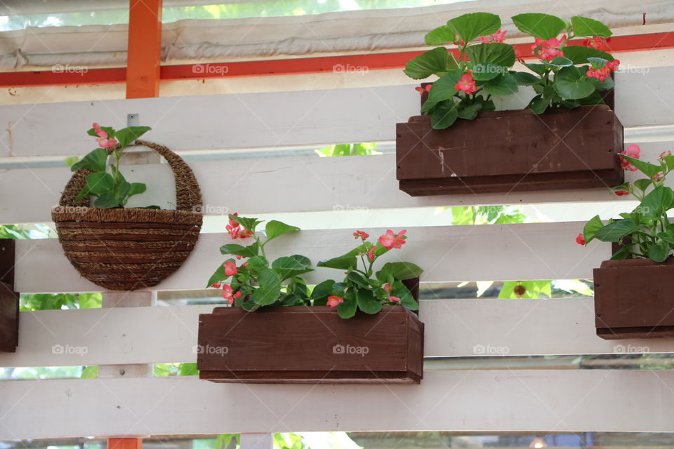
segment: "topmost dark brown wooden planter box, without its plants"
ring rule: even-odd
[[[482,112],[434,130],[430,116],[396,125],[397,180],[411,196],[614,187],[623,126],[607,105]]]

